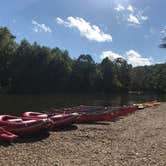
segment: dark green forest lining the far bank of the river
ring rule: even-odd
[[[18,44],[7,27],[0,27],[0,92],[166,92],[166,63],[132,67],[122,58],[96,63],[92,57],[72,59],[67,50],[26,39]]]

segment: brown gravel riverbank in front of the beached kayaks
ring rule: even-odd
[[[0,145],[0,165],[166,165],[166,103],[123,119]]]

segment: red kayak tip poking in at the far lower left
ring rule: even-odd
[[[0,138],[2,140],[7,140],[7,141],[13,141],[17,138],[18,136],[6,131],[5,129],[3,129],[2,127],[0,127]]]

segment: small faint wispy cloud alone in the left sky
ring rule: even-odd
[[[51,33],[52,30],[50,27],[48,27],[47,25],[45,24],[39,24],[37,21],[35,20],[32,20],[32,24],[34,25],[33,27],[33,31],[35,32],[49,32]]]

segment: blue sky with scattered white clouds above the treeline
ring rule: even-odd
[[[166,62],[165,0],[0,0],[0,26],[23,39],[69,51],[124,58],[133,66]]]

